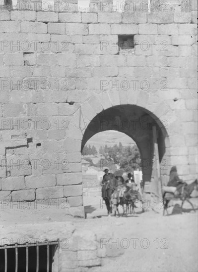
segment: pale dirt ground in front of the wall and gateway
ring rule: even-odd
[[[1,209],[1,227],[42,222],[72,221],[76,227],[99,233],[111,228],[114,232],[112,247],[119,247],[124,254],[105,258],[101,267],[92,267],[90,272],[197,272],[198,271],[198,198],[192,199],[196,213],[188,203],[183,214],[180,202],[168,209],[170,215],[162,216],[152,211],[141,213],[137,204],[135,215],[107,217],[105,206],[100,206],[100,197],[84,197],[86,220],[72,218],[56,205],[50,209],[37,207],[25,210],[17,207]],[[102,209],[101,209],[102,207]],[[110,244],[110,237],[101,237]],[[134,243],[136,239],[136,246]],[[143,239],[143,240],[142,240]]]

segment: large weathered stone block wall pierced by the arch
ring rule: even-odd
[[[139,1],[135,10],[21,2],[1,8],[1,198],[67,199],[82,211],[81,150],[106,130],[136,141],[149,184],[155,128],[162,181],[173,165],[193,181],[197,1]]]

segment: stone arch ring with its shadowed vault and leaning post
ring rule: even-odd
[[[136,94],[136,104],[128,103],[125,99],[123,104],[120,102],[119,105],[115,105],[112,101],[115,96],[113,94],[111,96],[108,91],[88,98],[71,118],[72,129],[75,127],[76,130],[73,141],[79,143],[78,150],[81,148],[82,151],[89,138],[99,132],[115,130],[130,136],[141,154],[144,196],[149,198],[150,194],[154,194],[155,197],[161,198],[161,183],[166,183],[171,166],[168,137],[170,124],[165,118],[167,112],[169,111],[169,115],[171,110],[164,101],[161,101],[160,111],[153,104],[155,111],[151,112],[149,99],[145,99],[147,96],[145,92],[132,91],[132,94],[130,96],[134,102]],[[129,99],[130,96],[127,93],[125,98]],[[120,96],[118,98],[122,99]],[[140,105],[137,101],[141,102]],[[156,113],[161,118],[158,118]]]

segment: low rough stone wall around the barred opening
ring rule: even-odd
[[[124,254],[124,248],[110,246],[110,239],[117,241],[110,227],[98,229],[95,233],[82,224],[79,227],[79,223],[54,222],[34,224],[34,229],[31,224],[15,226],[14,233],[13,227],[6,227],[1,229],[1,234],[0,246],[59,239],[59,249],[53,258],[53,272],[87,272],[91,267],[100,267],[105,259]]]

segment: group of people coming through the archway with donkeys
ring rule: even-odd
[[[128,190],[132,190],[137,193],[137,198],[141,200],[140,192],[137,192],[137,184],[135,183],[131,173],[128,174],[128,180],[125,181],[123,177],[115,177],[112,173],[109,173],[108,169],[104,170],[105,175],[102,179],[102,198],[105,201],[108,215],[111,214],[111,202],[114,199],[122,199],[124,193]]]

